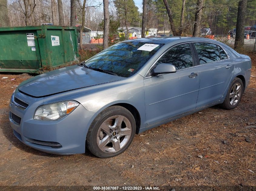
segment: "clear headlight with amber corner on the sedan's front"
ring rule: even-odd
[[[71,113],[79,103],[75,101],[62,101],[43,105],[35,110],[34,119],[37,120],[58,120]]]

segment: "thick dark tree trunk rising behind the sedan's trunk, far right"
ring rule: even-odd
[[[247,6],[247,0],[240,0],[238,3],[236,37],[234,49],[241,51],[244,47],[244,18]]]

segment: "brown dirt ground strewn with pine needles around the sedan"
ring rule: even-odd
[[[47,154],[13,135],[9,99],[15,86],[30,77],[0,74],[0,186],[156,185],[176,190],[184,186],[256,190],[256,128],[247,128],[256,124],[255,68],[234,110],[214,106],[135,135],[127,151],[108,159],[96,158],[89,151],[69,156]]]

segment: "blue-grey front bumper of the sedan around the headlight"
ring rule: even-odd
[[[52,154],[85,153],[85,140],[95,113],[81,104],[68,116],[56,121],[33,119],[35,109],[43,105],[43,98],[33,98],[15,91],[15,97],[29,103],[25,110],[10,102],[10,123],[14,135],[25,145]],[[11,114],[21,118],[13,123]]]

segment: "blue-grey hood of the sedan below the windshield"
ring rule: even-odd
[[[43,97],[121,79],[124,77],[73,65],[30,78],[22,82],[18,90],[33,97]]]

